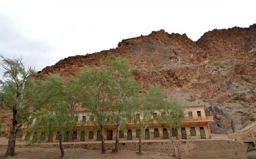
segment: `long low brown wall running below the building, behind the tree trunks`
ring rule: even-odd
[[[247,158],[246,148],[239,142],[227,140],[198,140],[198,141],[175,141],[181,158]],[[35,145],[17,145],[17,147],[43,147],[58,148],[58,143],[35,144]],[[86,148],[101,149],[100,143],[63,143],[65,148]],[[112,149],[114,143],[105,143],[106,149]],[[120,143],[120,150],[138,150],[138,143]],[[166,142],[144,142],[142,151],[167,152],[173,155],[172,143]],[[145,152],[146,153],[146,152]]]

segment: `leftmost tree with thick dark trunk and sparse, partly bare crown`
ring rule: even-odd
[[[26,90],[29,90],[29,76],[34,74],[31,67],[26,68],[22,58],[8,59],[0,55],[1,67],[4,71],[0,82],[0,99],[4,109],[13,113],[7,151],[4,157],[13,156],[15,152],[16,134],[29,117],[28,107],[24,104]]]

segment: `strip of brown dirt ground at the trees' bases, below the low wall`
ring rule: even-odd
[[[6,148],[0,148],[0,155],[4,155]],[[58,148],[16,148],[16,155],[9,157],[11,159],[53,159],[60,157]],[[65,158],[173,158],[164,152],[146,151],[143,155],[138,155],[136,151],[120,150],[118,154],[111,153],[107,150],[106,154],[101,154],[100,150],[68,148],[65,149]]]

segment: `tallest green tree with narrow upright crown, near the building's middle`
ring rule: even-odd
[[[139,84],[135,81],[132,75],[132,69],[129,67],[129,62],[124,58],[116,58],[110,56],[113,72],[114,88],[112,112],[114,121],[117,124],[116,142],[114,152],[118,153],[119,147],[119,132],[121,125],[125,125],[127,117],[133,114],[133,97],[139,94]]]

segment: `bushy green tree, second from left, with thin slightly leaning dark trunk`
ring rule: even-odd
[[[70,114],[70,90],[60,75],[50,74],[45,80],[37,81],[33,92],[29,102],[33,103],[35,112],[30,116],[28,131],[42,129],[49,134],[59,131],[59,148],[64,157],[63,134],[76,125],[76,117]]]

